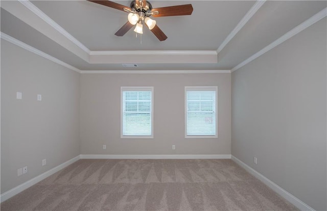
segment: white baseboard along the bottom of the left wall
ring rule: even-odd
[[[46,177],[60,171],[61,169],[71,165],[72,163],[76,162],[80,160],[80,155],[74,157],[73,159],[69,160],[69,161],[66,161],[65,163],[62,163],[58,166],[56,166],[55,168],[53,169],[50,169],[49,171],[46,171],[22,184],[19,184],[19,186],[16,186],[15,188],[13,189],[10,189],[9,191],[6,191],[5,193],[1,194],[0,196],[0,201],[3,202],[3,201],[6,201],[7,199],[13,197],[14,195],[24,191],[25,189],[28,189],[30,188],[31,186],[33,186],[34,184],[36,184],[37,182],[45,179]]]

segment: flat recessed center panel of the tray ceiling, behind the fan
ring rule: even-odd
[[[130,2],[119,3],[129,6]],[[133,30],[123,37],[114,35],[127,22],[128,13],[86,1],[32,3],[90,50],[216,50],[254,4],[247,1],[191,1],[194,8],[192,15],[153,18],[168,36],[167,42],[158,41],[147,29],[142,35],[141,44],[140,39],[135,38]],[[165,7],[188,3],[154,1],[152,5]],[[60,15],[57,11],[60,11]],[[217,17],[208,18],[215,13]],[[228,20],[228,24],[225,20]]]

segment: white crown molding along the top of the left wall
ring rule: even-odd
[[[71,70],[74,70],[76,72],[81,73],[81,70],[77,69],[76,67],[74,67],[72,65],[69,65],[69,64],[67,64],[67,63],[65,63],[65,62],[63,62],[63,61],[61,61],[59,59],[56,59],[56,58],[50,56],[49,54],[45,54],[45,52],[43,52],[41,50],[38,50],[38,49],[36,49],[36,48],[34,48],[34,47],[24,43],[24,42],[21,42],[21,41],[15,39],[15,38],[3,33],[3,32],[1,32],[0,37],[1,37],[1,39],[4,39],[4,40],[6,40],[6,41],[8,41],[8,42],[10,42],[12,44],[15,44],[15,45],[17,45],[17,46],[19,46],[21,48],[24,48],[24,49],[26,49],[26,50],[28,50],[30,52],[33,52],[34,54],[36,54],[36,55],[38,55],[40,57],[43,57],[43,58],[48,59],[50,61],[53,61],[53,62],[55,62],[55,63],[57,63],[59,65],[62,65],[64,67],[68,68],[68,69],[71,69]]]

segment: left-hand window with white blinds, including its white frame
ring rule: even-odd
[[[121,138],[153,138],[153,87],[122,87]]]

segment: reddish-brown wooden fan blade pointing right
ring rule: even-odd
[[[193,12],[193,7],[189,5],[177,5],[171,7],[160,7],[151,10],[158,11],[158,15],[153,15],[154,17],[164,17],[164,16],[177,16],[177,15],[191,15]]]

